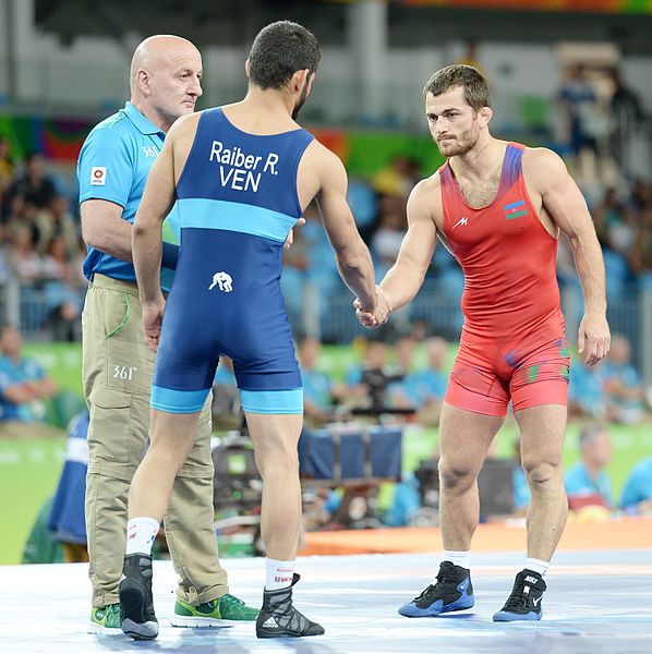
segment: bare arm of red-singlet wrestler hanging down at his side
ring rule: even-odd
[[[587,203],[568,174],[564,161],[546,149],[530,150],[532,175],[541,193],[543,208],[568,237],[575,265],[584,294],[584,317],[580,324],[578,350],[587,351],[587,363],[593,365],[609,350],[606,323],[605,274],[602,250]]]

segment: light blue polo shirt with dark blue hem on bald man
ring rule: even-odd
[[[134,221],[149,170],[162,147],[165,133],[131,102],[102,120],[86,137],[77,162],[80,204],[86,199],[106,199],[120,205],[122,218]],[[177,205],[164,222],[164,240],[179,243]],[[84,275],[92,279],[100,272],[113,279],[135,282],[132,264],[88,247]],[[173,270],[161,270],[161,286],[169,290]]]

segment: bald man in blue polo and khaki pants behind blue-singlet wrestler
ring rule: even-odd
[[[84,392],[90,414],[86,525],[93,610],[89,632],[122,633],[118,584],[125,547],[126,501],[149,432],[154,353],[142,337],[142,306],[131,232],[149,169],[166,133],[202,95],[202,57],[177,36],[153,36],[135,50],[131,100],[100,122],[82,148],[77,177],[89,280],[83,314]],[[170,289],[178,256],[177,210],[162,226],[161,286]],[[165,519],[180,582],[172,625],[216,627],[253,620],[257,610],[229,594],[214,529],[210,421],[174,483]]]

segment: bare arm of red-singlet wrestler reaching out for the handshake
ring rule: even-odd
[[[419,292],[435,251],[436,228],[432,217],[426,184],[420,182],[408,199],[408,232],[394,266],[381,282],[388,310],[395,311],[410,302]],[[432,202],[432,201],[431,201]]]

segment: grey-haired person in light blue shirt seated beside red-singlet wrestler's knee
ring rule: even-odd
[[[568,506],[611,507],[612,482],[605,468],[612,460],[612,437],[604,425],[588,425],[580,432],[579,440],[581,461],[568,469],[564,477]]]

